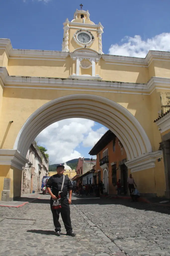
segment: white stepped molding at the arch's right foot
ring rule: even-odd
[[[160,157],[162,157],[161,150],[150,152],[126,162],[125,165],[128,169],[131,169],[131,172],[138,172],[141,170],[154,168],[156,159]]]

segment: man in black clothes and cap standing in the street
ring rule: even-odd
[[[70,219],[70,206],[71,204],[71,195],[72,195],[72,184],[68,176],[63,175],[64,173],[64,165],[57,166],[57,174],[51,176],[46,184],[46,188],[48,193],[51,196],[50,199],[50,207],[51,212],[53,214],[53,221],[55,226],[56,235],[60,236],[61,225],[59,222],[59,214],[61,213],[61,218],[64,223],[64,227],[66,229],[68,236],[76,236],[76,234],[72,230],[71,219]],[[64,180],[63,180],[64,179]],[[52,187],[52,192],[51,188]],[[54,209],[53,202],[59,198],[59,192],[61,191],[61,205],[60,208]],[[69,191],[69,199],[67,198],[67,194]]]

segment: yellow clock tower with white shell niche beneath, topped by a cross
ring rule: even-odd
[[[70,52],[72,71],[70,78],[95,79],[99,77],[98,62],[101,58],[103,26],[90,20],[88,10],[76,9],[74,18],[63,23],[62,51]]]

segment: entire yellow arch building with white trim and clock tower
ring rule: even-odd
[[[2,200],[20,196],[22,167],[35,137],[75,117],[99,122],[120,139],[141,193],[170,196],[169,113],[156,120],[170,105],[170,52],[105,55],[103,27],[89,16],[76,10],[71,22],[66,19],[62,51],[17,50],[0,39]]]

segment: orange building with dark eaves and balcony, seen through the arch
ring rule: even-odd
[[[96,155],[97,183],[104,183],[104,193],[116,194],[115,186],[118,179],[124,192],[127,191],[128,170],[126,152],[119,139],[108,130],[95,146],[90,150],[90,155]]]

